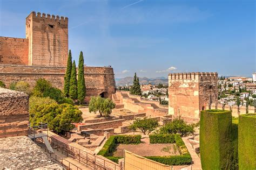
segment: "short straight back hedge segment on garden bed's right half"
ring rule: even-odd
[[[175,143],[175,134],[150,134],[151,144]]]

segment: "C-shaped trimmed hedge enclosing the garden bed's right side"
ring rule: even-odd
[[[163,140],[161,140],[161,138]],[[152,141],[152,142],[151,142]],[[184,144],[180,134],[151,134],[150,135],[150,143],[156,144],[157,141],[159,143],[176,143],[178,146],[178,150],[180,155],[171,155],[171,156],[152,156],[145,157],[157,162],[160,162],[165,165],[190,165],[191,164],[191,155],[187,150],[186,145]],[[167,142],[170,141],[170,142]]]

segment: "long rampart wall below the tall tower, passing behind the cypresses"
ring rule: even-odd
[[[39,78],[49,80],[54,87],[63,89],[66,67],[49,66],[21,66],[0,65],[0,80],[7,87],[11,82],[26,81],[34,86]],[[111,98],[115,91],[113,68],[110,67],[84,67],[86,96],[89,102],[90,96],[103,94],[103,97]]]

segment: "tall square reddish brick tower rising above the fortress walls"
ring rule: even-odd
[[[68,59],[68,18],[31,12],[26,17],[30,66],[66,66]]]

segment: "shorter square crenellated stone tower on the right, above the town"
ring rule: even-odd
[[[209,103],[218,103],[218,73],[169,74],[169,114],[199,118]]]

